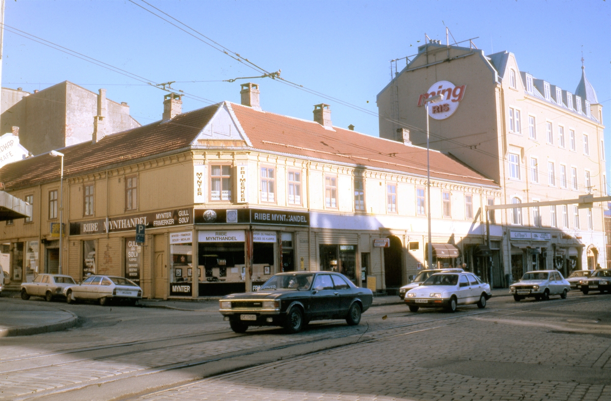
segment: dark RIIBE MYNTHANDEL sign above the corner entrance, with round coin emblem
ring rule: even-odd
[[[196,209],[196,224],[268,224],[268,225],[310,225],[307,211],[285,211],[266,209]]]

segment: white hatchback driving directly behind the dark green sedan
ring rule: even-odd
[[[431,275],[422,285],[410,289],[405,294],[409,310],[419,308],[439,308],[455,312],[458,305],[477,303],[485,308],[486,301],[492,297],[490,286],[469,272],[443,272]]]

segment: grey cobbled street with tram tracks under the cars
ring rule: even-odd
[[[52,305],[79,325],[0,338],[0,400],[611,400],[609,294],[457,313],[386,305],[298,335],[236,335],[216,302]]]

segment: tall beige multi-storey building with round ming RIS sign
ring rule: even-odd
[[[502,204],[606,196],[602,105],[585,77],[576,91],[518,68],[511,52],[485,55],[469,41],[430,41],[406,58],[405,68],[378,94],[380,137],[430,146],[499,183]],[[577,74],[576,74],[577,75]],[[496,212],[503,226],[503,272],[606,266],[601,203],[510,208]]]

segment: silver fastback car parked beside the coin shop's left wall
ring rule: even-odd
[[[79,285],[65,289],[66,302],[77,300],[97,300],[106,305],[111,300],[126,300],[136,305],[142,299],[142,288],[131,280],[112,275],[90,275]]]

